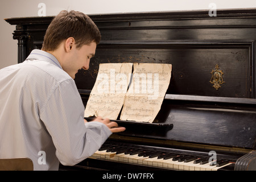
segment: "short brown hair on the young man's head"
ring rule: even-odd
[[[54,51],[60,43],[73,37],[76,47],[95,42],[100,43],[101,34],[98,27],[88,15],[79,11],[61,11],[49,24],[44,35],[43,51]]]

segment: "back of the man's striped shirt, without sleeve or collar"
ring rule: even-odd
[[[65,80],[72,78],[42,60],[26,60],[0,70],[0,158],[27,156],[36,163],[40,151],[55,153],[39,114],[53,89]]]

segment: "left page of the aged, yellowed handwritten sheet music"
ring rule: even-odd
[[[117,119],[130,82],[133,63],[100,64],[84,117]]]

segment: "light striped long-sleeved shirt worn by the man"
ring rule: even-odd
[[[34,170],[57,170],[88,158],[112,134],[84,124],[75,81],[50,53],[35,49],[0,70],[0,158],[30,158]]]

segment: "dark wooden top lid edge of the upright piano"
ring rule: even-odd
[[[218,16],[223,17],[255,17],[255,8],[244,9],[217,9]],[[178,10],[178,11],[148,11],[148,12],[131,12],[131,13],[106,13],[106,14],[88,14],[94,22],[119,21],[119,20],[138,20],[138,19],[191,19],[191,18],[207,18],[209,19],[209,10]],[[55,16],[29,16],[29,17],[13,17],[5,18],[10,24],[45,24],[51,23]],[[118,18],[118,19],[117,19]]]

